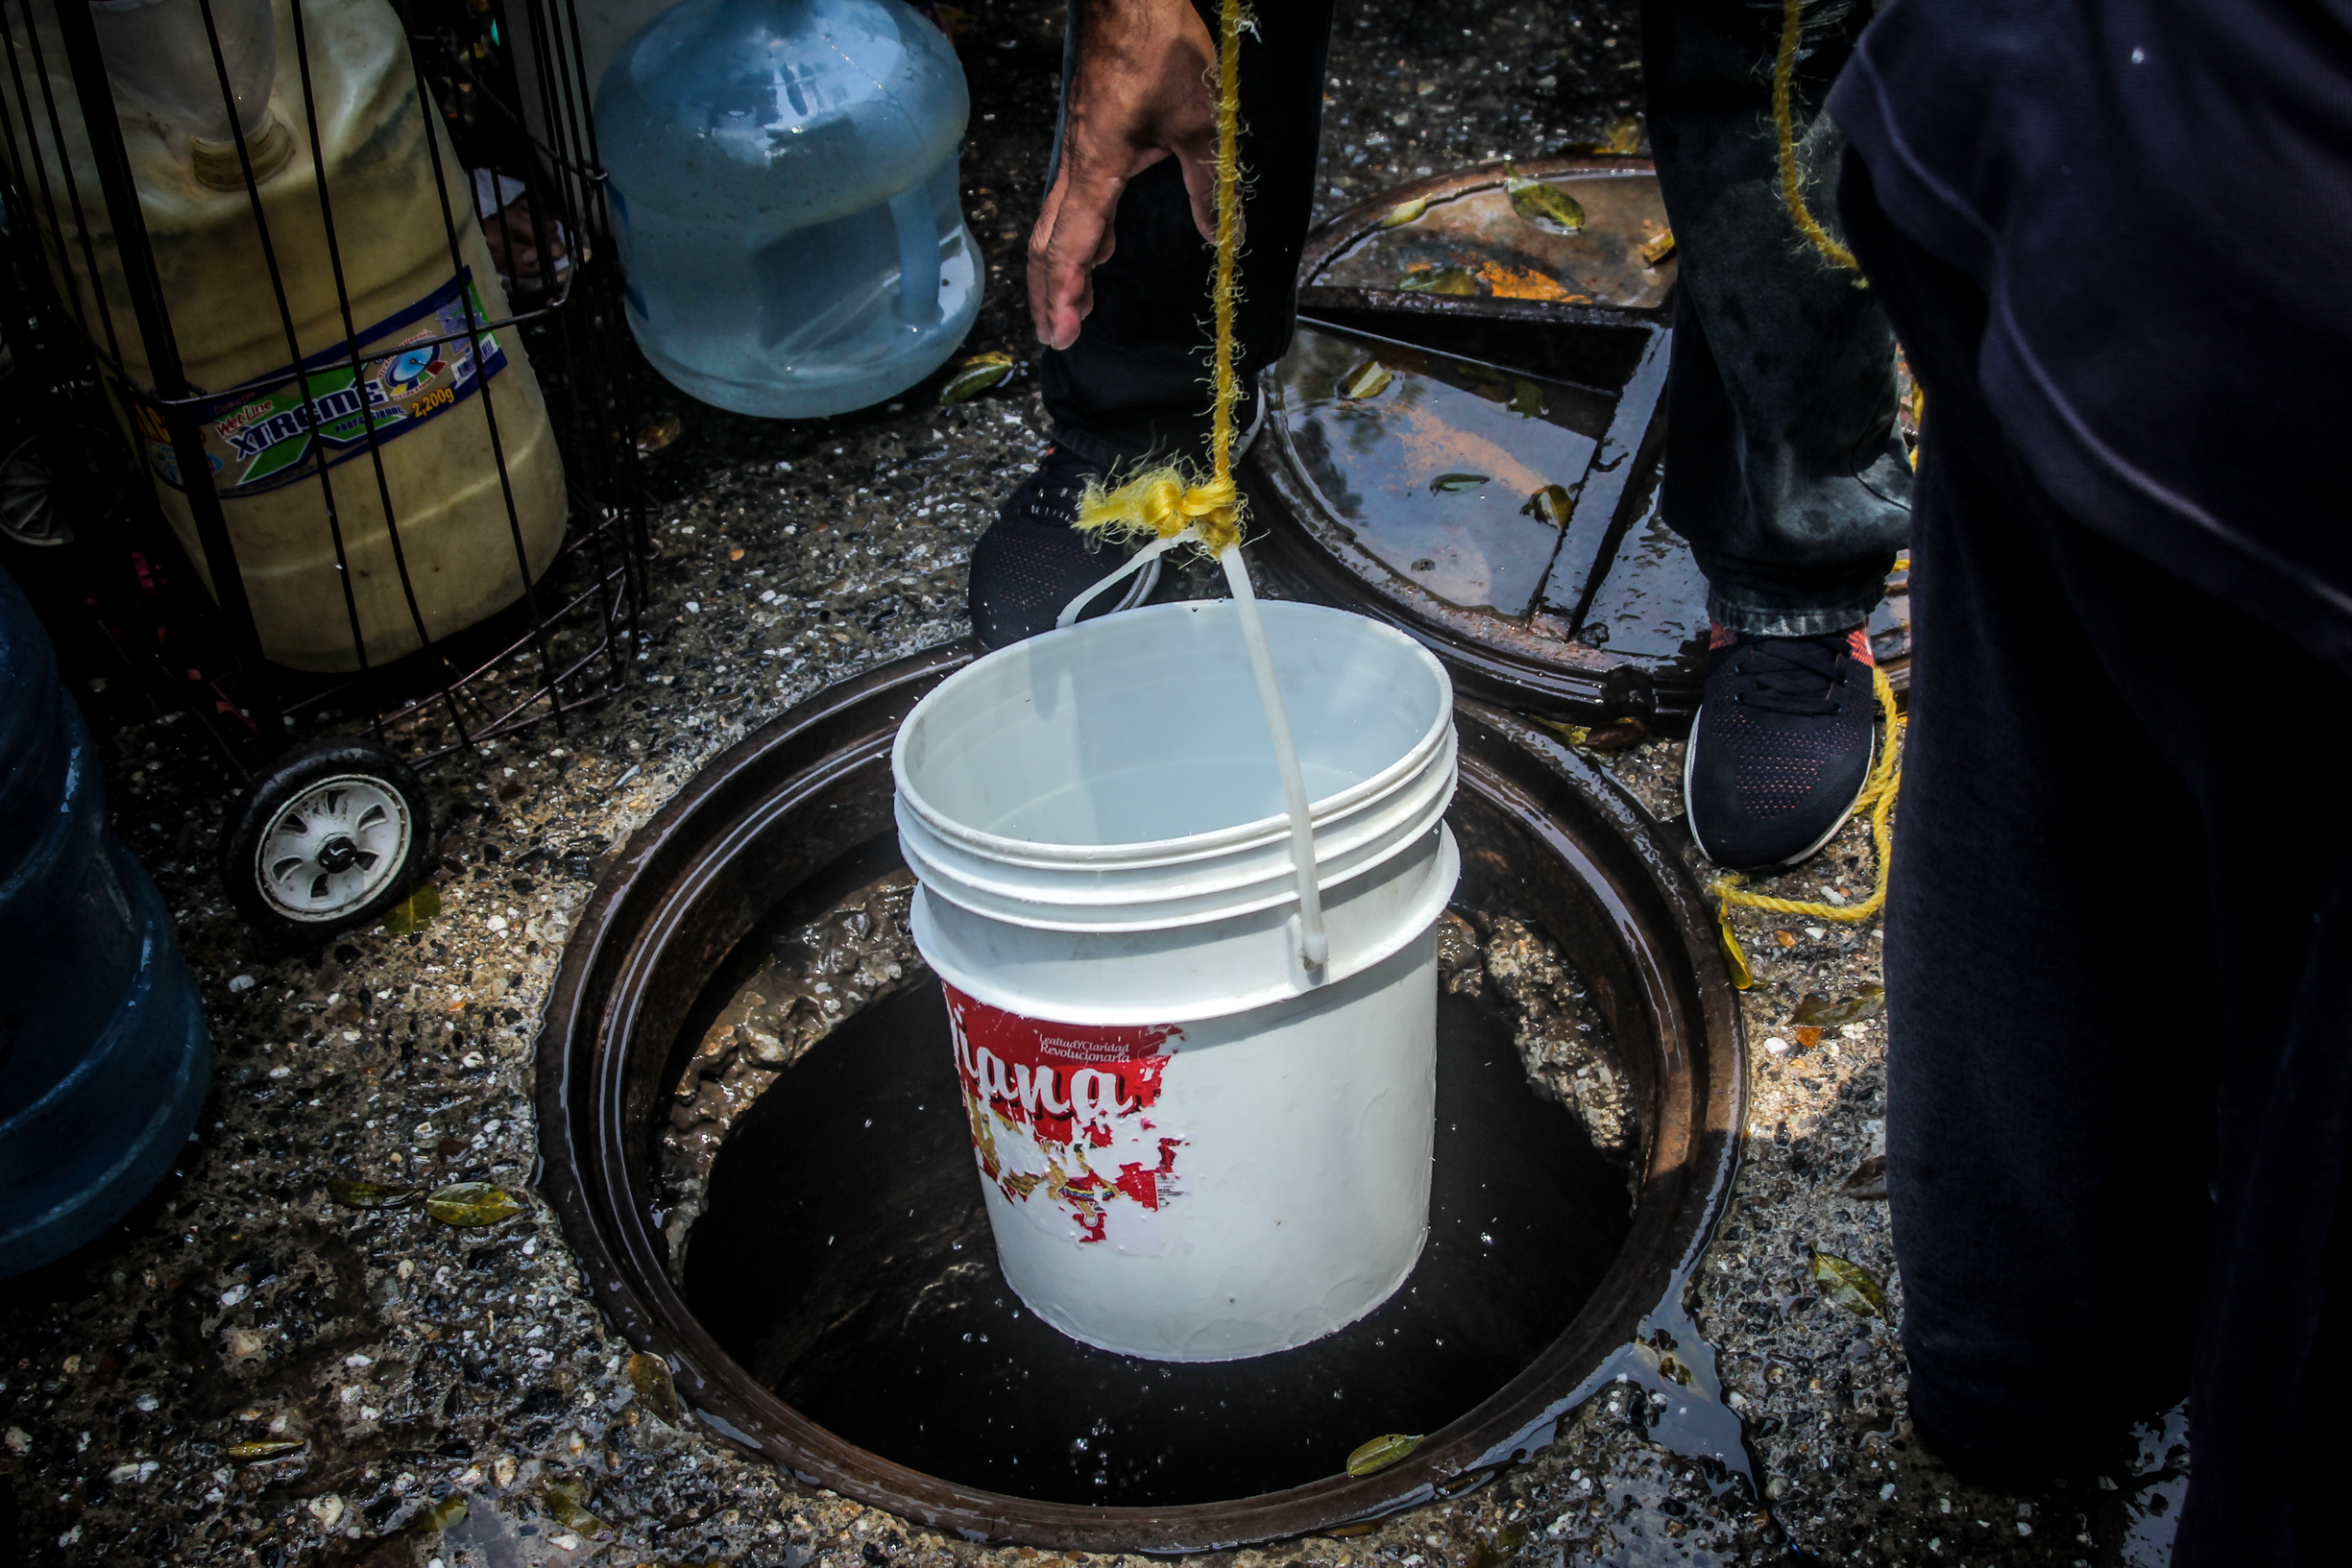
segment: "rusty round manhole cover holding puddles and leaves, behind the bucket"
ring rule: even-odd
[[[1691,715],[1708,585],[1658,515],[1675,256],[1649,160],[1399,186],[1324,223],[1298,282],[1242,468],[1272,564],[1411,632],[1470,696]],[[1870,642],[1903,691],[1907,571],[1886,588]]]

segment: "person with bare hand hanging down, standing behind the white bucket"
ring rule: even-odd
[[[1792,110],[1813,125],[1865,14],[1806,31]],[[1663,515],[1708,576],[1705,701],[1684,766],[1691,830],[1733,870],[1820,849],[1870,773],[1863,623],[1907,529],[1893,334],[1780,207],[1773,54],[1750,0],[1646,0],[1644,71],[1682,277]],[[1331,0],[1261,5],[1242,42],[1242,386],[1289,348],[1312,214]],[[1216,42],[1195,0],[1073,0],[1063,108],[1030,235],[1030,315],[1051,449],[971,557],[983,646],[1054,625],[1117,557],[1073,529],[1089,480],[1200,458],[1209,411]],[[1811,162],[1825,136],[1809,136]],[[1237,409],[1251,425],[1256,409]],[[1141,604],[1157,562],[1124,597]]]

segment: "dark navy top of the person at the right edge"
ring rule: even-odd
[[[2352,672],[2352,2],[1893,0],[1830,113],[2039,484]]]

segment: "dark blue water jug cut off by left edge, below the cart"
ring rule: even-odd
[[[162,1180],[212,1037],[172,919],[106,825],[89,726],[0,571],[0,1276],[71,1253]]]

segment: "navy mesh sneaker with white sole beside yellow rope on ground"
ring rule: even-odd
[[[1870,637],[1750,637],[1715,628],[1708,691],[1682,755],[1682,809],[1700,853],[1762,872],[1830,842],[1877,752]]]

